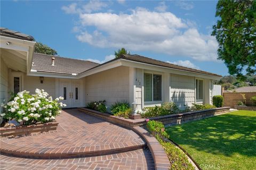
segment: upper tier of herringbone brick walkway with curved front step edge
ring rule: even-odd
[[[1,138],[1,152],[31,158],[99,156],[141,149],[145,142],[132,130],[86,115],[62,111],[57,131],[20,138]]]

